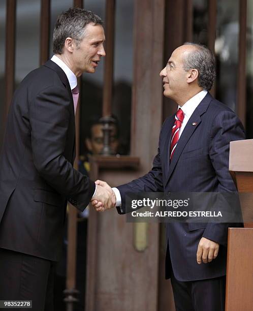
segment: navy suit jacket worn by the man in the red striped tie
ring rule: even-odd
[[[163,124],[151,171],[118,187],[123,211],[127,192],[236,192],[228,169],[229,143],[244,139],[244,129],[235,113],[208,93],[188,120],[169,162],[173,124],[174,115]],[[228,227],[238,226],[242,224],[167,224],[166,277],[172,268],[179,281],[225,275]],[[198,265],[196,253],[202,236],[218,242],[220,248],[215,260]]]

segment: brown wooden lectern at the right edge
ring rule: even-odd
[[[226,311],[253,310],[253,139],[230,143],[229,170],[245,228],[229,228]]]

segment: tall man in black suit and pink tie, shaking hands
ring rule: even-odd
[[[67,201],[83,211],[111,193],[73,168],[77,77],[105,56],[99,16],[69,9],[58,16],[51,60],[15,91],[0,162],[0,300],[33,300],[53,309]]]

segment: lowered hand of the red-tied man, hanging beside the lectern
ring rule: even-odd
[[[218,255],[219,243],[208,240],[204,237],[201,238],[197,251],[197,263],[201,264],[211,262]]]

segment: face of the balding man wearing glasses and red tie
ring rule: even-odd
[[[160,72],[164,83],[164,96],[176,100],[188,91],[187,72],[184,70],[183,57],[187,53],[187,46],[180,46],[174,50],[167,66]]]

